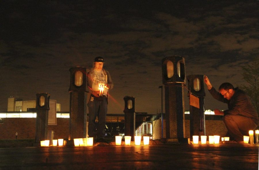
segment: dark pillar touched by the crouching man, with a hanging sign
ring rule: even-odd
[[[204,108],[204,75],[189,75],[188,90],[190,93],[199,98],[199,108],[190,105],[190,137],[193,135],[206,135],[205,131],[205,108]]]

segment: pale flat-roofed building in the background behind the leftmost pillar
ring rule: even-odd
[[[56,104],[57,112],[60,112],[61,104]],[[36,111],[36,100],[23,101],[21,98],[12,97],[8,98],[7,112],[27,112]]]

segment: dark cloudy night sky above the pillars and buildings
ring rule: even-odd
[[[218,89],[245,84],[241,66],[259,57],[257,0],[98,2],[0,1],[0,111],[9,96],[39,92],[69,111],[69,68],[103,56],[114,82],[108,113],[123,113],[123,97],[134,96],[136,112],[155,114],[163,58],[184,57],[186,76],[207,75]],[[205,109],[226,109],[205,92]]]

